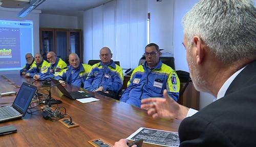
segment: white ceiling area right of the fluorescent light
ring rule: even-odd
[[[36,9],[42,14],[76,16],[84,10],[97,7],[112,0],[46,0]]]

